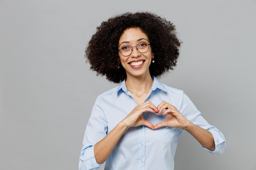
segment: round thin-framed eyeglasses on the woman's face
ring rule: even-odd
[[[136,47],[137,51],[139,51],[140,53],[145,53],[146,51],[148,51],[148,43],[146,42],[140,42],[137,44],[137,46],[133,46],[133,47]],[[131,46],[129,45],[125,45],[123,46],[121,49],[119,49],[119,51],[121,52],[121,54],[123,56],[128,56],[132,53],[132,48]]]

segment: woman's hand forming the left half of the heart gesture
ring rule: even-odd
[[[122,121],[128,127],[137,127],[140,125],[145,125],[154,130],[154,125],[146,121],[142,116],[143,112],[145,111],[157,113],[159,110],[157,110],[157,108],[152,102],[146,101],[144,103],[138,104]]]

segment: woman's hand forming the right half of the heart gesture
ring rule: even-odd
[[[168,102],[163,101],[157,106],[157,109],[159,110],[159,114],[162,113],[162,111],[165,109],[163,115],[167,114],[167,118],[165,121],[157,123],[155,125],[155,129],[159,127],[175,127],[175,128],[186,128],[191,125],[191,121],[189,121],[185,116],[183,116],[179,110],[177,110],[176,107],[171,105]]]

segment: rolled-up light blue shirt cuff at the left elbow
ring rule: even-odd
[[[94,145],[86,148],[79,159],[79,170],[98,170],[102,164],[97,163],[94,156]]]

